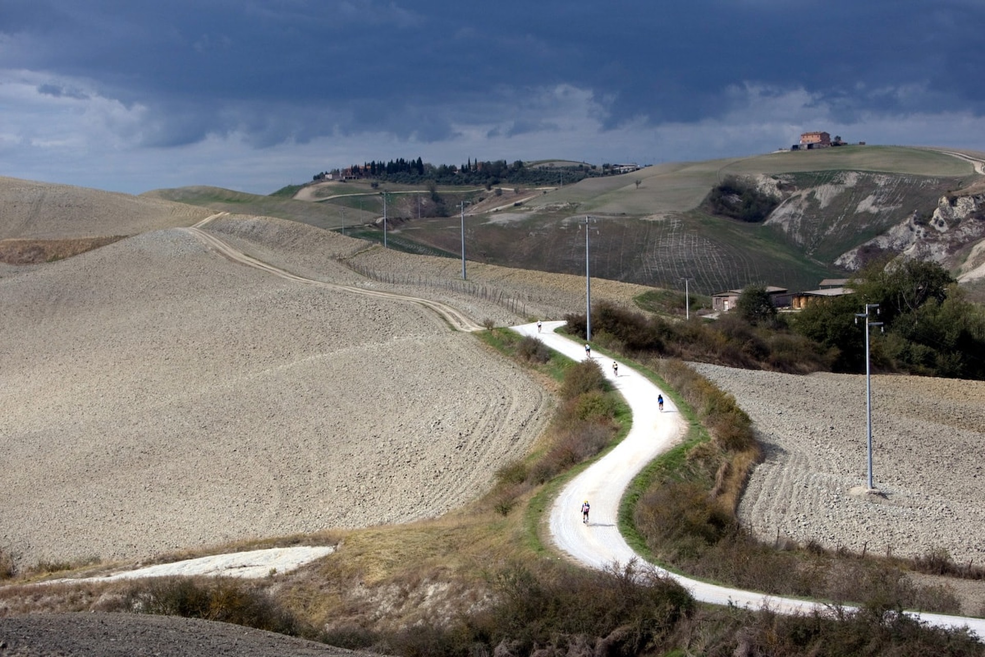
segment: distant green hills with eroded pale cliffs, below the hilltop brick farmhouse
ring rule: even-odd
[[[585,271],[586,217],[593,276],[712,294],[752,283],[812,290],[867,260],[906,252],[957,275],[977,266],[985,237],[985,155],[891,146],[844,146],[750,158],[647,166],[576,184],[490,190],[442,188],[440,203],[421,190],[394,189],[388,210],[391,247],[457,256],[457,204],[466,217],[473,261],[565,274]],[[736,177],[778,204],[760,223],[716,216],[713,187]],[[295,199],[254,197],[213,188],[153,195],[217,210],[270,215],[319,228],[341,227],[382,240],[379,191],[368,181],[319,183]],[[957,202],[957,198],[966,199]],[[309,199],[300,201],[298,199]],[[312,202],[316,201],[316,202]],[[970,258],[970,260],[969,260]]]

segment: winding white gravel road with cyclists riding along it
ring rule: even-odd
[[[540,338],[545,345],[573,361],[586,358],[584,343],[577,343],[555,332],[564,322],[544,322],[514,326],[521,335]],[[644,560],[626,544],[618,527],[620,500],[630,481],[654,458],[667,451],[684,435],[687,424],[674,403],[664,396],[664,410],[657,408],[657,395],[663,393],[645,376],[624,362],[615,375],[612,360],[592,355],[602,371],[623,395],[632,410],[632,427],[622,442],[608,454],[572,479],[558,494],[551,508],[551,536],[561,552],[593,568],[631,559]],[[581,520],[581,503],[591,505],[589,523]],[[737,605],[749,609],[768,608],[781,614],[826,614],[829,607],[817,602],[742,591],[700,582],[663,568],[657,570],[689,590],[695,600],[715,605]],[[852,608],[846,608],[852,610]],[[923,622],[941,627],[964,627],[985,637],[985,620],[944,614],[908,613]]]

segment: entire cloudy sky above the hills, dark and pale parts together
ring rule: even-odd
[[[2,0],[0,175],[270,193],[369,160],[985,151],[985,0]]]

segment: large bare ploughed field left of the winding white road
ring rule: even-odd
[[[284,281],[182,230],[4,277],[0,303],[0,545],[22,564],[439,515],[551,404],[427,309]]]

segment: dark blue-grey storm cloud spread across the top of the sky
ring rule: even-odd
[[[146,104],[161,144],[254,129],[263,143],[288,139],[319,108],[322,128],[308,134],[382,127],[441,139],[450,127],[433,108],[500,85],[591,89],[614,99],[610,125],[720,115],[723,90],[744,81],[802,87],[846,115],[980,111],[985,99],[972,55],[985,3],[8,0],[0,20],[4,33],[31,36],[8,65]],[[896,91],[912,85],[925,93]],[[174,102],[181,110],[164,115]],[[249,107],[230,110],[238,102]],[[296,119],[256,115],[265,102]]]

